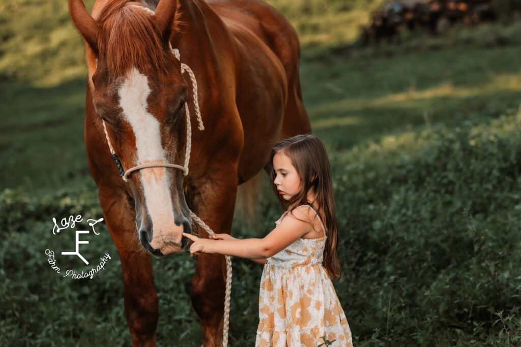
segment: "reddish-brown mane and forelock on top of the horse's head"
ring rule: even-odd
[[[151,15],[154,5],[157,6],[130,0],[98,1],[94,5],[93,18],[100,23],[96,44],[107,63],[109,80],[124,75],[132,67],[144,71],[151,64],[159,73],[167,73],[161,34]],[[178,3],[172,32],[179,31],[179,16]],[[97,57],[92,48],[86,46],[89,83],[94,90],[92,75],[96,71]]]

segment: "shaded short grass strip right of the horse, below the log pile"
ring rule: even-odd
[[[302,66],[307,110],[316,133],[327,134],[338,149],[404,125],[498,115],[505,105],[517,107],[519,53],[519,46],[470,46],[364,59],[329,56]]]

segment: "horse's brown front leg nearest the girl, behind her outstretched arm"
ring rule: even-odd
[[[222,170],[222,169],[221,169]],[[237,172],[226,177],[208,180],[208,188],[196,193],[195,210],[199,217],[216,233],[230,233],[233,208],[237,196]],[[219,185],[210,186],[210,182]],[[225,182],[225,184],[223,184]],[[226,184],[226,182],[232,182]],[[204,185],[198,185],[205,188]],[[208,191],[210,190],[211,191]],[[207,237],[202,228],[201,237]],[[222,326],[225,300],[226,262],[222,255],[201,254],[197,256],[197,266],[191,280],[192,305],[201,322],[203,345],[222,345]]]

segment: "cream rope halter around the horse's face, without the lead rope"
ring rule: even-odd
[[[172,54],[180,60],[180,54],[179,50],[173,49],[172,46],[170,46],[170,49],[172,50]],[[181,73],[188,72],[190,75],[190,80],[192,81],[192,94],[193,94],[193,100],[194,100],[194,108],[195,108],[195,115],[197,118],[197,123],[199,126],[197,128],[200,131],[204,130],[204,124],[203,119],[201,117],[201,109],[199,107],[199,99],[197,99],[197,81],[195,80],[195,75],[190,69],[188,65],[185,63],[181,63]],[[141,164],[137,166],[133,166],[132,168],[128,169],[127,171],[123,170],[123,165],[121,164],[121,161],[119,160],[118,156],[114,152],[114,148],[112,147],[110,143],[110,138],[108,137],[107,132],[107,126],[105,124],[105,121],[103,121],[103,131],[105,132],[105,137],[107,139],[108,149],[110,150],[110,154],[114,161],[116,162],[116,165],[118,166],[119,173],[121,175],[121,178],[123,178],[123,181],[128,182],[128,176],[133,172],[145,168],[157,168],[157,167],[164,167],[164,168],[173,168],[173,169],[179,169],[183,172],[183,176],[188,175],[188,164],[190,162],[190,151],[192,149],[192,125],[190,123],[190,111],[188,109],[188,102],[184,103],[184,111],[187,115],[187,148],[184,152],[184,165],[178,165],[178,164],[169,164],[169,163],[157,163],[157,164]]]

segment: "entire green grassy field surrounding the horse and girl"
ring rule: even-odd
[[[359,25],[382,1],[270,3],[303,43],[304,102],[336,194],[334,285],[355,345],[521,344],[521,23],[362,47]],[[0,345],[130,345],[106,228],[84,254],[113,258],[93,279],[60,278],[45,255],[71,244],[52,217],[102,216],[66,2],[1,3],[0,32]],[[282,211],[267,183],[258,221],[237,219],[234,235],[274,226]],[[188,253],[154,261],[160,346],[201,345],[194,265]],[[231,346],[254,344],[261,271],[233,259]]]

